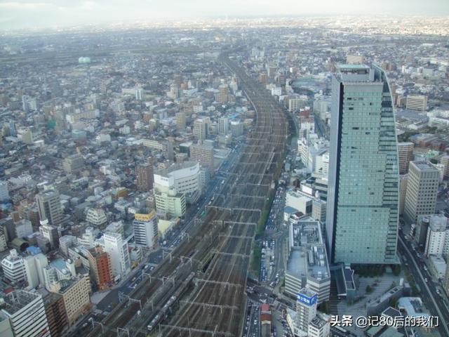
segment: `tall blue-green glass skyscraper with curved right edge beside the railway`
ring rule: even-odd
[[[396,263],[398,150],[384,72],[340,65],[333,77],[326,236],[333,263]]]

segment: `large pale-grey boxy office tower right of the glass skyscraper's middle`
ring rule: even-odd
[[[427,161],[411,161],[408,169],[404,218],[416,223],[417,217],[434,214],[440,171]]]

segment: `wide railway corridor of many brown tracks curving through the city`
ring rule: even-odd
[[[247,146],[206,216],[88,336],[241,336],[246,279],[257,223],[279,176],[287,117],[262,85],[227,54],[257,118]]]

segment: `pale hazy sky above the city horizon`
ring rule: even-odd
[[[154,18],[344,13],[449,15],[449,0],[0,0],[0,29]]]

